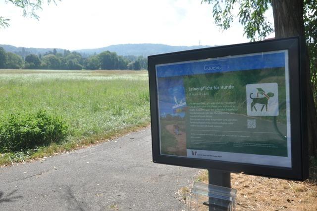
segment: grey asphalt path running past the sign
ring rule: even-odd
[[[86,149],[0,169],[1,211],[182,211],[198,169],[152,163],[146,128]]]

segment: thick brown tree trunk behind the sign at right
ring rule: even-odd
[[[301,36],[305,38],[303,0],[272,0],[275,38]],[[307,52],[307,48],[305,51]],[[309,56],[306,53],[307,114],[309,155],[317,157],[317,114],[314,103]]]

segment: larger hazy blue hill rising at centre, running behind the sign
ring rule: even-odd
[[[101,53],[103,51],[116,52],[118,55],[128,56],[149,56],[161,53],[170,53],[182,50],[192,50],[197,48],[211,47],[209,45],[195,45],[195,46],[171,46],[166,44],[116,44],[109,45],[107,47],[95,48],[95,49],[79,49],[76,50],[79,53],[85,53],[92,55],[94,53]]]

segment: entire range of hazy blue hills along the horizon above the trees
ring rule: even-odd
[[[0,44],[5,51],[26,56],[27,54],[45,54],[49,51],[53,51],[53,48],[33,48],[33,47],[15,47],[13,45]],[[192,50],[197,48],[211,47],[209,45],[195,45],[195,46],[171,46],[166,44],[116,44],[109,45],[107,47],[94,48],[94,49],[79,49],[73,50],[79,52],[84,57],[88,57],[93,54],[99,54],[103,51],[116,52],[118,55],[128,56],[149,56],[161,53],[170,53],[175,51]],[[23,50],[24,48],[24,50]],[[56,48],[57,53],[63,53],[64,49]]]

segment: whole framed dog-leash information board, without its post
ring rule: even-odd
[[[153,161],[302,180],[299,38],[149,57]]]

